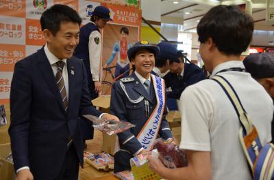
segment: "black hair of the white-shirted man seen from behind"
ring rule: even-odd
[[[238,6],[217,5],[201,18],[197,33],[199,42],[209,37],[225,55],[240,55],[247,50],[253,33],[253,19]]]

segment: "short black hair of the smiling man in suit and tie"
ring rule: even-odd
[[[42,13],[40,18],[42,31],[49,29],[53,35],[60,30],[60,24],[62,22],[73,22],[81,25],[82,19],[75,10],[62,4],[52,5]]]

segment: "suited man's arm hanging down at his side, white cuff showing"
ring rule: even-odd
[[[32,78],[25,60],[14,67],[10,90],[9,134],[15,172],[29,171],[29,126],[32,105]],[[30,172],[30,171],[29,171]]]

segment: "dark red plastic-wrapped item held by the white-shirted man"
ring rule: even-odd
[[[188,166],[186,152],[173,143],[166,142],[159,138],[155,142],[155,147],[159,153],[159,159],[166,168],[181,168]]]

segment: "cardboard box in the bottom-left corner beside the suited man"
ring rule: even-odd
[[[15,179],[13,164],[5,160],[5,157],[8,157],[10,152],[10,143],[0,145],[0,179]]]

